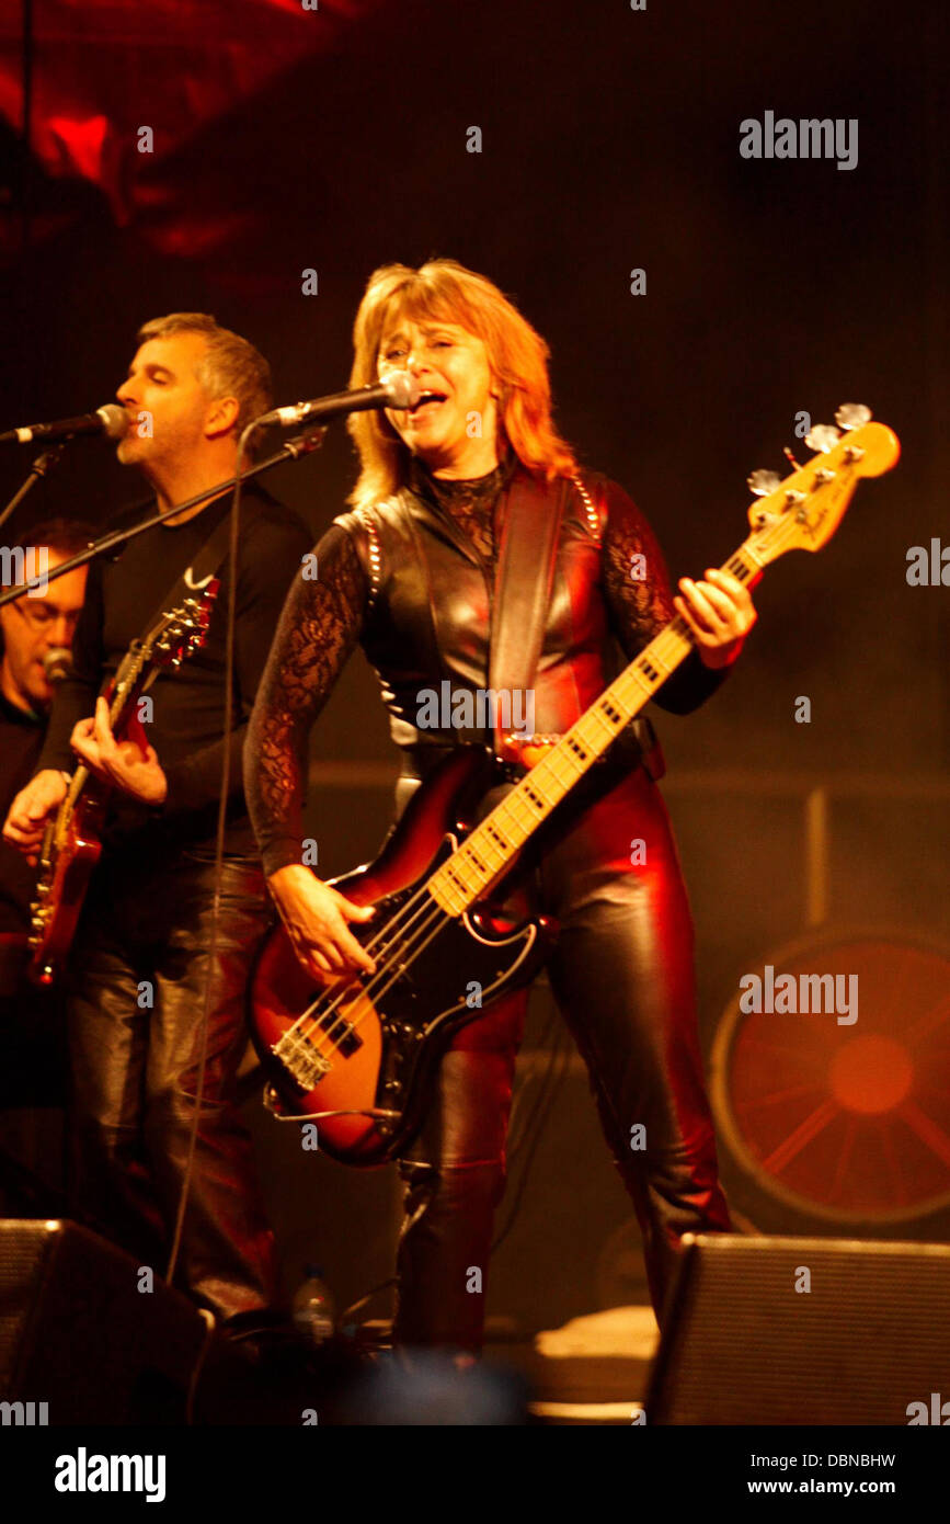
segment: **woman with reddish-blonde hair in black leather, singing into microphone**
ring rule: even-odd
[[[748,588],[726,572],[684,578],[671,596],[647,521],[612,482],[579,471],[556,434],[547,346],[487,279],[454,261],[378,270],[356,317],[350,384],[393,369],[411,372],[419,402],[350,419],[362,468],[355,511],[317,547],[320,579],[294,581],[245,750],[271,895],[300,963],[324,986],[375,969],[355,934],[371,907],[301,863],[308,735],[358,642],[403,751],[402,806],[460,741],[493,744],[484,728],[461,735],[420,722],[422,695],[446,680],[454,692],[505,686],[504,672],[489,681],[492,643],[507,600],[536,579],[548,579],[530,683],[542,742],[569,730],[612,680],[612,642],[630,660],[679,613],[696,649],[658,703],[688,713],[719,687],[755,622]],[[507,520],[531,494],[542,517],[560,514],[559,532],[547,564],[544,535],[527,553],[522,536],[505,582]],[[508,636],[510,661],[518,634]],[[662,1317],[679,1237],[728,1230],[729,1218],[703,1090],[690,908],[659,773],[638,722],[554,812],[505,890],[560,927],[551,986],[633,1199]],[[496,774],[481,814],[510,788],[512,774]],[[400,1161],[402,1344],[449,1346],[461,1359],[480,1349],[524,1009],[524,992],[505,995],[458,1032]],[[475,1282],[472,1268],[481,1271]]]

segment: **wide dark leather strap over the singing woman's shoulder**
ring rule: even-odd
[[[534,686],[554,582],[560,521],[571,483],[551,492],[547,482],[518,469],[508,483],[501,527],[489,687],[512,695]],[[502,754],[501,706],[495,704],[495,754]]]

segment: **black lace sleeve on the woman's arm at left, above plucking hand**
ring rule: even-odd
[[[350,535],[330,527],[297,573],[257,690],[244,753],[265,872],[301,861],[308,741],[362,629],[367,579]]]

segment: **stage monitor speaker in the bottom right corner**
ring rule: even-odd
[[[687,1234],[664,1324],[647,1423],[933,1422],[950,1247]]]

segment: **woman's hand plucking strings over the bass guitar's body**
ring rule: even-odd
[[[294,952],[318,985],[355,978],[376,963],[350,931],[350,922],[371,920],[373,905],[356,905],[301,863],[289,863],[268,878]]]

